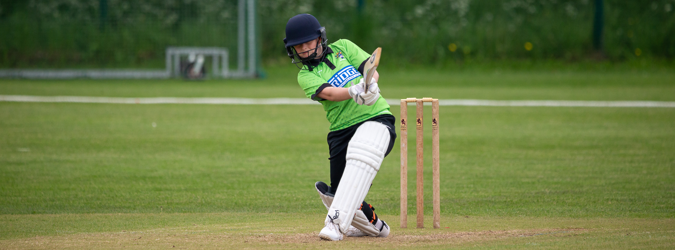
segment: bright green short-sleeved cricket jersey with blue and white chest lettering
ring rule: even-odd
[[[317,97],[327,87],[349,88],[362,78],[363,65],[371,55],[354,42],[340,39],[327,46],[325,59],[312,70],[298,73],[298,84],[304,94],[323,104],[331,131],[344,129],[378,115],[389,114],[389,104],[382,96],[371,106],[359,105],[353,99],[333,102]]]

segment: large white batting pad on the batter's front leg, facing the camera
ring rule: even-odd
[[[352,224],[356,210],[368,194],[387,152],[389,137],[387,126],[367,121],[356,129],[349,142],[347,164],[327,218],[338,224],[342,232]]]

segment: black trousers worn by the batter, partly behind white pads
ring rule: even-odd
[[[354,133],[356,133],[356,129],[367,121],[377,121],[387,126],[387,129],[389,129],[389,146],[387,147],[385,157],[391,152],[391,148],[394,148],[394,142],[396,142],[394,123],[396,122],[396,117],[393,115],[378,115],[377,117],[356,123],[346,129],[328,133],[328,148],[331,155],[331,157],[328,158],[328,160],[331,161],[331,193],[335,193],[335,191],[338,190],[338,186],[340,186],[340,179],[342,179],[342,173],[344,173],[344,168],[347,164],[346,156],[349,141],[354,136]],[[375,208],[373,208],[373,206],[367,204],[366,201],[363,201],[360,209],[371,223],[377,222],[377,215],[375,215]]]

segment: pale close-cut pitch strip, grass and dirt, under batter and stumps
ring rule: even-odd
[[[382,216],[392,222],[391,235],[387,238],[345,237],[344,241],[329,242],[317,237],[321,225],[315,223],[315,217],[320,216],[248,213],[5,215],[0,218],[5,224],[0,249],[624,249],[634,246],[668,249],[675,245],[675,220],[672,219],[443,216],[442,226],[445,227],[408,229],[398,228],[398,216]],[[26,222],[23,226],[7,224],[22,220]],[[103,221],[109,223],[106,225]],[[157,225],[138,226],[153,221]],[[29,227],[38,224],[45,224],[45,227],[42,230],[32,228],[37,231],[28,236]],[[76,226],[78,224],[80,226]],[[94,224],[99,226],[92,227]],[[91,228],[85,230],[90,232],[73,229],[88,226]],[[8,239],[5,232],[11,227],[26,232],[25,237],[15,235]],[[114,230],[105,231],[107,227]]]

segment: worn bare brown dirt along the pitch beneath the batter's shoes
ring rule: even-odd
[[[464,243],[472,242],[499,241],[510,237],[536,237],[540,235],[570,237],[585,231],[588,231],[588,229],[487,230],[477,232],[439,232],[439,230],[426,230],[425,232],[414,232],[417,233],[416,235],[406,235],[404,234],[405,232],[395,231],[387,238],[345,237],[344,241],[332,243],[319,239],[316,232],[297,234],[233,234],[227,232],[208,232],[208,230],[195,230],[193,232],[170,232],[165,230],[153,232],[151,230],[144,232],[76,234],[5,240],[0,241],[0,249],[321,248],[329,247],[327,244],[338,244],[342,247],[350,245],[356,248],[371,244],[383,247],[415,247],[419,245],[463,245]]]

